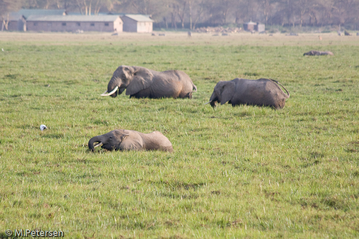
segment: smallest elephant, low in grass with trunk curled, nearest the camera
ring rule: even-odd
[[[93,145],[95,142],[95,146]],[[89,149],[101,146],[108,150],[163,150],[172,152],[172,144],[161,132],[144,134],[127,129],[115,129],[104,135],[95,136],[89,141]]]

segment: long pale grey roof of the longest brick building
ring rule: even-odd
[[[36,16],[31,15],[27,21],[115,21],[119,16],[115,15],[52,15],[52,16]]]

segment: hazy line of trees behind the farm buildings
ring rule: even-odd
[[[0,0],[3,20],[18,9],[65,9],[83,15],[141,13],[158,26],[189,28],[239,25],[349,26],[359,23],[359,0]]]

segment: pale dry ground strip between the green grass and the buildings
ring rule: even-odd
[[[34,32],[1,32],[0,41],[32,42],[35,45],[93,45],[93,44],[125,44],[138,42],[141,45],[223,45],[223,46],[327,46],[350,45],[359,46],[359,36],[338,36],[336,33],[303,33],[298,36],[286,34],[251,34],[247,32],[231,33],[228,36],[211,33],[166,32],[165,36],[151,33],[111,33],[89,32],[75,33],[34,33]],[[1,47],[1,46],[0,46]]]

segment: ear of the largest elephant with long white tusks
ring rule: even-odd
[[[134,95],[152,84],[153,74],[146,68],[134,68],[132,81],[126,88],[126,95]]]

